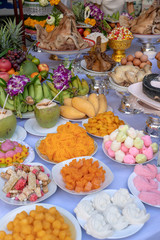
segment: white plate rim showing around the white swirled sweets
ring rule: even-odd
[[[106,192],[106,193],[108,193],[110,196],[112,196],[116,191],[118,191],[118,189],[104,189],[102,192]],[[83,201],[83,200],[91,200],[91,199],[93,199],[93,197],[94,197],[95,195],[96,195],[96,193],[95,193],[95,194],[92,194],[92,195],[87,195],[87,196],[85,196],[84,198],[82,198],[82,199],[80,200],[80,202]],[[132,195],[132,194],[130,194],[130,196],[131,196],[132,198],[134,198],[135,203],[138,204],[138,207],[140,207],[141,209],[146,210],[144,204],[139,200],[139,198],[137,198],[136,196],[134,196],[134,195]],[[80,202],[79,202],[79,203],[80,203]],[[76,217],[77,217],[77,216],[76,216]],[[84,223],[85,223],[85,221],[82,220],[82,219],[79,218],[79,217],[77,217],[77,220],[78,220],[80,226],[84,229]],[[135,226],[135,227],[137,226],[137,229],[136,229],[136,231],[135,231],[134,233],[130,233],[130,234],[128,234],[127,236],[121,236],[121,237],[116,237],[116,236],[114,236],[114,234],[113,234],[112,236],[108,237],[107,239],[120,239],[120,238],[124,238],[124,237],[129,237],[129,236],[135,234],[136,232],[138,232],[138,231],[144,226],[144,223],[143,223],[143,224],[137,224],[137,225],[135,224],[135,225],[132,225],[132,226]],[[125,228],[125,229],[126,229],[126,228]],[[123,230],[125,230],[125,229],[122,229],[122,230],[120,230],[120,231],[123,231]],[[84,230],[85,230],[85,229],[84,229]],[[115,232],[119,232],[119,231],[115,231]],[[104,238],[104,239],[106,239],[106,238]]]

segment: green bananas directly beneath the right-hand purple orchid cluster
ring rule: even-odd
[[[63,103],[65,98],[72,98],[75,96],[84,96],[89,93],[89,85],[85,79],[82,79],[82,81],[79,79],[79,77],[76,75],[72,75],[73,79],[71,82],[69,82],[69,88],[66,90],[63,90],[56,98],[55,100]],[[49,87],[52,97],[54,98],[60,90],[55,88],[54,82],[47,82],[47,86]]]

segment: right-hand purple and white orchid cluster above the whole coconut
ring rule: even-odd
[[[69,88],[69,82],[71,81],[72,74],[69,69],[60,64],[58,68],[53,71],[52,78],[55,88],[62,90]]]

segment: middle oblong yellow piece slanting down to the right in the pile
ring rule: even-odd
[[[72,106],[88,117],[95,117],[96,115],[93,105],[88,100],[85,100],[83,98],[72,98]]]

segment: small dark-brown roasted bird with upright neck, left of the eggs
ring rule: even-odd
[[[89,70],[96,72],[109,71],[116,65],[116,62],[104,52],[101,52],[101,37],[96,39],[95,51],[89,52],[88,56],[84,56],[86,67]]]

